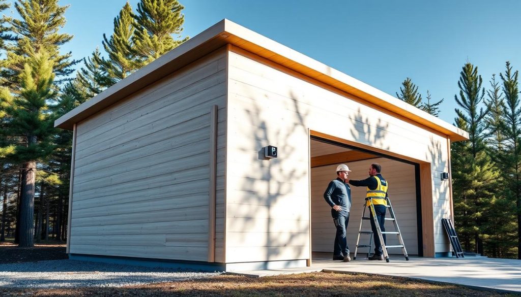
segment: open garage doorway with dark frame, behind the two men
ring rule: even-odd
[[[389,183],[389,198],[400,226],[407,253],[423,256],[419,164],[315,136],[311,137],[310,144],[311,250],[315,259],[329,257],[333,254],[336,229],[331,218],[331,208],[324,200],[323,195],[329,182],[337,177],[336,167],[340,163],[347,164],[349,169],[352,170],[349,175],[351,179],[367,178],[371,163],[382,165],[382,176]],[[352,205],[347,228],[348,246],[351,253],[355,251],[365,197],[365,187],[351,186]],[[389,217],[389,212],[387,217]],[[370,231],[370,223],[364,221],[362,229]],[[386,222],[386,229],[394,231],[390,221]],[[362,235],[359,244],[368,244],[368,242],[369,235]],[[397,236],[387,236],[387,245],[398,244]],[[357,258],[364,259],[367,251],[367,248],[359,249]],[[402,255],[400,248],[391,248],[388,252],[390,255]]]

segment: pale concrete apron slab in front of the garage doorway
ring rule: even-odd
[[[390,263],[358,257],[349,263],[315,257],[311,267],[234,272],[253,277],[311,272],[364,273],[453,283],[479,290],[521,293],[521,260],[487,257],[426,258],[391,255]]]

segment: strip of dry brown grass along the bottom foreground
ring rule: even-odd
[[[125,288],[1,289],[1,296],[509,296],[462,286],[433,284],[399,277],[313,273],[248,278],[222,275],[194,281],[155,283]],[[514,295],[512,295],[514,296]]]

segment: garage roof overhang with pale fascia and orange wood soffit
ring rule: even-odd
[[[232,44],[314,80],[352,94],[408,120],[431,128],[451,141],[467,140],[468,133],[406,102],[351,76],[309,58],[287,46],[224,19],[165,55],[132,73],[126,79],[71,110],[55,121],[55,126],[72,130],[73,125],[113,105],[140,89],[187,66],[212,51]]]

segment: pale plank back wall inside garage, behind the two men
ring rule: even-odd
[[[368,177],[367,171],[371,163],[382,165],[382,176],[389,183],[389,198],[393,205],[394,213],[398,219],[400,231],[407,253],[418,254],[418,230],[416,215],[416,185],[414,165],[394,161],[386,158],[376,158],[363,161],[346,163],[352,170],[349,177],[351,179],[365,179]],[[312,251],[313,252],[333,252],[333,242],[336,229],[331,218],[331,208],[324,200],[324,191],[329,182],[336,178],[337,164],[314,167],[311,169],[311,230],[312,230]],[[365,187],[351,186],[351,211],[349,225],[347,228],[348,246],[351,253],[356,247],[358,227],[362,217],[364,199],[366,197]],[[369,216],[369,210],[366,210]],[[386,214],[390,217],[389,211]],[[391,221],[386,222],[386,230],[394,231]],[[363,230],[370,231],[369,221],[364,221]],[[362,235],[360,244],[368,244],[368,235]],[[387,244],[396,245],[398,237],[393,234],[387,235]],[[367,248],[362,248],[358,252],[366,253]],[[371,252],[374,252],[371,249]],[[401,254],[401,249],[389,249],[390,254]]]

